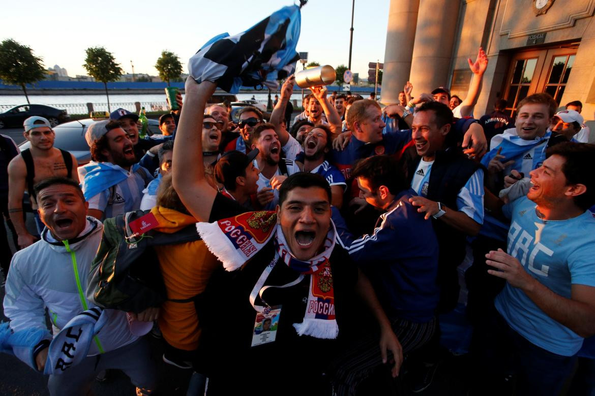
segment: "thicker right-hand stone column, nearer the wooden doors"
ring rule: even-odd
[[[448,5],[448,9],[444,9]],[[449,80],[459,17],[458,0],[419,0],[411,74],[413,96],[445,87]]]

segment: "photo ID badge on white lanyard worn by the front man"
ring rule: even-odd
[[[268,344],[275,341],[277,337],[277,328],[279,324],[279,316],[281,315],[281,305],[270,306],[268,305],[265,300],[262,299],[262,293],[267,290],[269,287],[290,287],[300,283],[303,279],[303,274],[300,274],[299,277],[293,282],[284,284],[282,286],[264,286],[265,281],[267,281],[268,275],[271,274],[275,264],[279,259],[279,254],[275,251],[275,256],[273,260],[267,265],[267,268],[262,271],[262,274],[256,281],[252,292],[250,293],[250,304],[256,311],[256,320],[254,321],[254,327],[252,330],[252,347],[262,344]],[[264,287],[263,287],[264,286]],[[256,296],[261,298],[261,301],[264,303],[264,306],[256,305]]]

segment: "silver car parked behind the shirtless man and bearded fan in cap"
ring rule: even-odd
[[[66,122],[53,128],[56,134],[54,147],[70,151],[70,153],[76,157],[79,166],[88,163],[91,160],[91,152],[89,151],[89,145],[84,138],[84,134],[87,131],[87,128],[89,128],[89,125],[96,121],[87,118],[79,121]],[[159,121],[149,118],[149,131],[153,134],[160,134]],[[30,143],[28,141],[24,141],[18,146],[21,151],[29,147]]]

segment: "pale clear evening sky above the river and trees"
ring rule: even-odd
[[[211,37],[246,30],[272,12],[291,5],[279,0],[103,1],[99,3],[20,1],[5,8],[0,39],[33,49],[46,68],[59,65],[68,75],[86,74],[84,50],[104,46],[125,73],[156,75],[164,49],[187,59]],[[320,64],[347,65],[351,0],[310,0],[302,8],[299,52]],[[355,0],[352,71],[367,77],[368,62],[384,59],[389,0]],[[7,18],[7,14],[15,15]],[[26,17],[18,17],[26,15]]]

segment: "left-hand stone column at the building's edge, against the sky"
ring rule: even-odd
[[[419,0],[390,0],[382,77],[383,104],[399,103],[399,92],[409,80],[418,8]],[[369,60],[372,61],[374,59]]]

